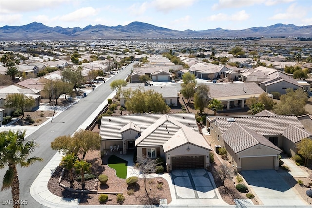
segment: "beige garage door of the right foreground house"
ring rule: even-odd
[[[274,169],[275,157],[242,157],[242,170]]]

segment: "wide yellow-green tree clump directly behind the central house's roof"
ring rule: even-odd
[[[136,89],[128,95],[125,107],[132,113],[168,113],[169,106],[165,103],[162,95],[154,90]]]

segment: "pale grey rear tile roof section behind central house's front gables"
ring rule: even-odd
[[[101,120],[100,136],[102,140],[122,139],[120,130],[129,122],[140,127],[141,132],[153,125],[164,114],[141,114],[130,116],[103,116]],[[195,115],[193,113],[167,114],[176,121],[190,127],[199,133]]]

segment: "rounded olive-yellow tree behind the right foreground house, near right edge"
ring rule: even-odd
[[[286,94],[280,96],[280,102],[278,102],[273,108],[274,113],[278,115],[294,114],[301,116],[307,114],[305,110],[308,96],[303,89],[298,88],[293,90],[292,88],[286,89]]]

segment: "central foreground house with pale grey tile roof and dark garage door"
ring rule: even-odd
[[[164,158],[167,171],[209,166],[211,148],[192,113],[104,116],[100,136],[102,152],[111,146],[119,146],[121,154],[136,149],[138,159]]]

